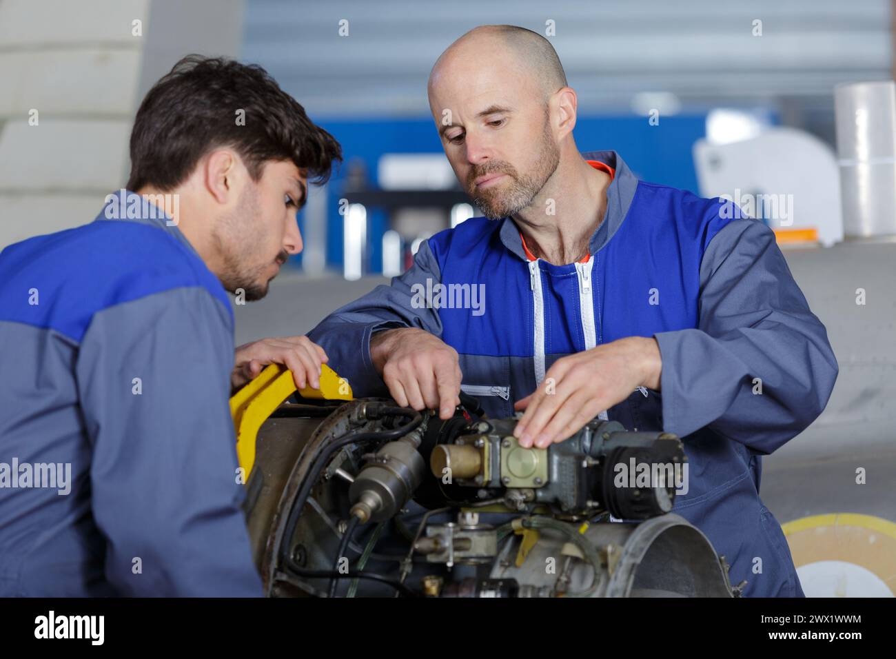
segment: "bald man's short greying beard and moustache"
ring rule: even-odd
[[[550,128],[545,122],[545,130],[541,134],[541,149],[538,164],[531,174],[520,174],[516,168],[504,160],[489,160],[483,165],[470,169],[467,176],[467,191],[489,220],[500,220],[515,212],[520,212],[532,203],[541,189],[551,178],[560,163],[560,150],[557,148]],[[487,174],[506,174],[511,182],[484,190],[477,190],[474,181]]]

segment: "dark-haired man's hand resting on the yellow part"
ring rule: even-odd
[[[292,378],[299,389],[306,384],[313,389],[321,386],[321,364],[327,362],[327,353],[307,336],[287,336],[280,339],[262,339],[245,343],[237,348],[230,384],[234,391],[262,372],[268,364],[283,364],[292,371]]]

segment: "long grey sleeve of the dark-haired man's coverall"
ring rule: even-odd
[[[108,308],[84,335],[91,505],[120,594],[262,594],[240,508],[232,365],[232,321],[202,288]]]

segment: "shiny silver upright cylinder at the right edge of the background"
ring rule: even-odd
[[[846,238],[896,238],[896,82],[834,90]]]

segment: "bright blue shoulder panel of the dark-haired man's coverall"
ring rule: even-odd
[[[46,327],[80,342],[93,315],[165,290],[202,287],[233,308],[218,278],[165,230],[96,220],[0,253],[0,320]]]

